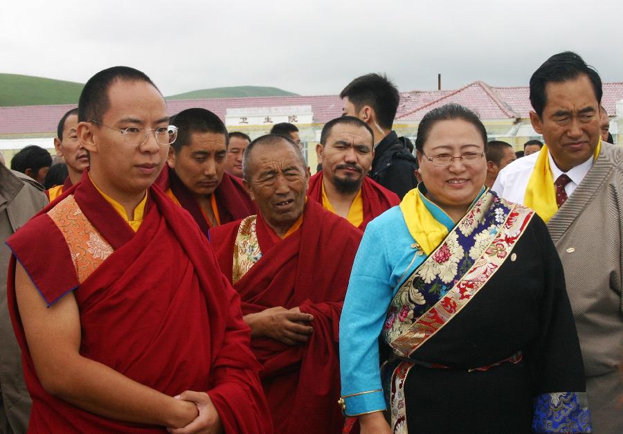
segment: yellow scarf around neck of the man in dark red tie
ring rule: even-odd
[[[597,147],[595,148],[595,154],[593,154],[593,161],[597,161],[597,156],[601,150],[602,139],[599,138],[599,143],[597,143]],[[550,157],[547,145],[543,145],[539,151],[539,156],[534,164],[532,175],[530,175],[530,181],[528,181],[527,188],[525,189],[523,204],[535,210],[536,214],[538,214],[545,223],[558,211],[558,206],[556,204],[556,187],[554,186],[552,168],[550,168]]]

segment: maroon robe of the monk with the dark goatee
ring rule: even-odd
[[[323,204],[323,177],[323,171],[320,170],[309,179],[309,188],[307,189],[307,197],[320,205]],[[395,192],[381,186],[369,177],[363,177],[361,200],[363,201],[363,221],[359,225],[361,230],[365,230],[365,226],[368,226],[372,219],[385,213],[392,206],[400,204],[400,199]]]

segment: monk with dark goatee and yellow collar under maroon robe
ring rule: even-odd
[[[374,135],[352,116],[330,120],[316,145],[323,170],[309,180],[307,195],[325,210],[365,230],[374,217],[400,203],[396,193],[367,177],[374,158]]]

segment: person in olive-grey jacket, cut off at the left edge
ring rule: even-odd
[[[30,395],[21,372],[21,352],[6,305],[10,251],[4,242],[47,203],[39,183],[0,163],[0,433],[25,433],[30,416]],[[37,247],[40,246],[33,246]]]

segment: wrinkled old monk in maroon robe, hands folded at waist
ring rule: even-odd
[[[210,231],[242,298],[276,433],[340,433],[338,323],[361,231],[305,201],[305,159],[269,134],[244,152],[260,213]]]

